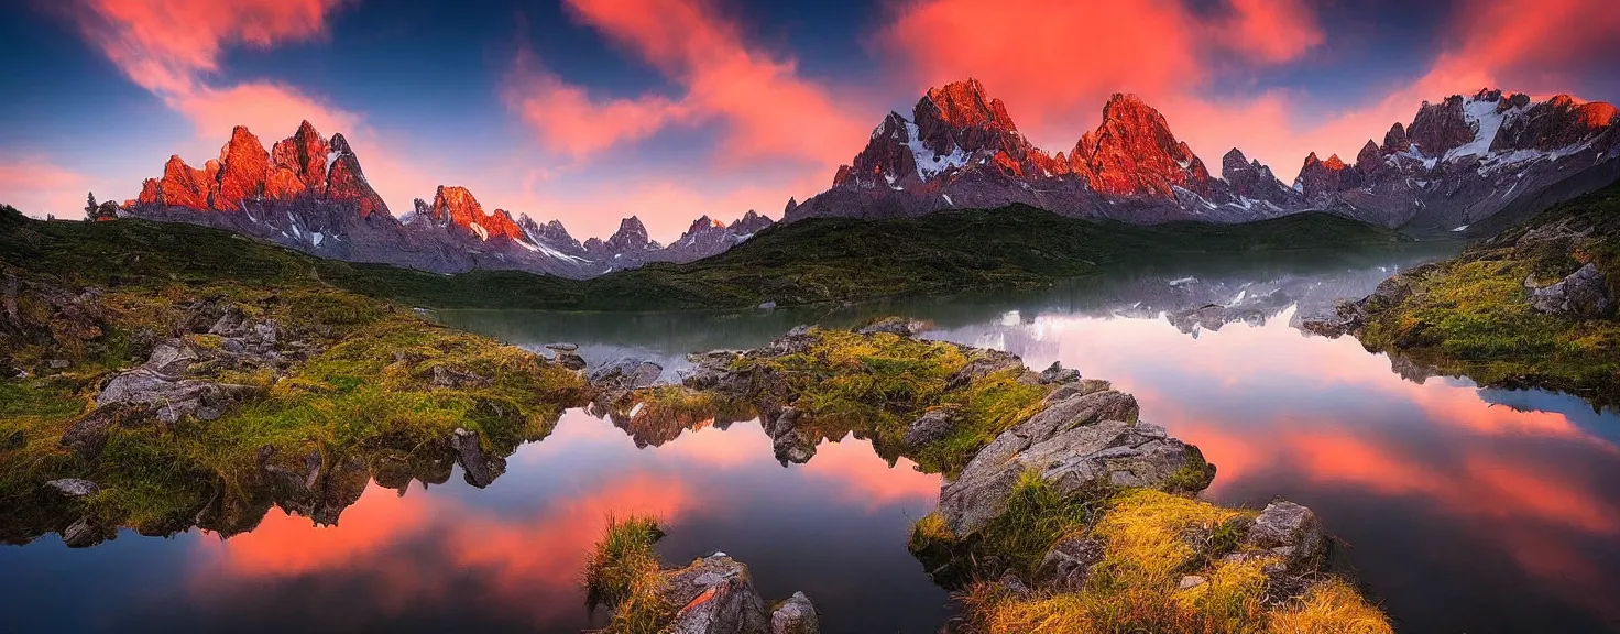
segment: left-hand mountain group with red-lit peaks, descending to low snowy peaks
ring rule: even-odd
[[[484,211],[463,186],[441,185],[395,217],[366,182],[342,133],[321,136],[309,122],[271,151],[248,128],[202,169],[168,157],[120,211],[191,222],[264,238],[322,258],[407,266],[433,272],[514,269],[585,279],[650,261],[701,259],[753,237],[771,219],[748,211],[724,224],[708,216],[679,240],[659,245],[635,216],[608,240],[583,243],[562,222],[544,225],[505,209]]]

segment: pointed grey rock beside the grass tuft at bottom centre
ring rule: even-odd
[[[671,634],[770,634],[771,615],[748,568],[716,553],[664,572],[659,597],[679,605],[663,631]]]

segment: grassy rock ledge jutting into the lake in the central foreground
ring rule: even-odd
[[[904,323],[886,319],[880,324]],[[920,456],[938,451],[953,438],[961,443],[966,431],[987,431],[983,426],[991,422],[975,420],[974,413],[983,410],[975,409],[980,405],[975,399],[983,397],[975,396],[983,394],[975,392],[975,388],[983,381],[1013,376],[1017,386],[1035,386],[1042,396],[1022,415],[996,420],[1003,426],[988,430],[993,438],[972,451],[957,473],[946,473],[938,512],[914,529],[912,551],[936,580],[964,589],[970,621],[983,616],[974,615],[975,611],[995,610],[996,605],[1009,605],[1008,602],[1016,605],[1011,608],[1014,613],[1030,615],[1061,605],[1097,602],[1095,592],[1113,592],[1095,590],[1095,584],[1089,584],[1095,576],[1121,564],[1131,566],[1119,561],[1132,555],[1129,540],[1126,545],[1113,543],[1119,529],[1103,527],[1113,520],[1131,525],[1132,535],[1158,530],[1166,535],[1166,543],[1184,545],[1178,546],[1178,556],[1184,559],[1170,568],[1170,577],[1144,580],[1157,584],[1153,587],[1131,589],[1147,592],[1144,597],[1163,597],[1170,602],[1166,610],[1187,610],[1196,616],[1200,597],[1230,593],[1239,584],[1233,579],[1251,579],[1244,592],[1252,597],[1247,603],[1252,605],[1252,613],[1247,618],[1257,631],[1264,631],[1267,623],[1290,623],[1290,618],[1306,611],[1302,605],[1307,602],[1346,595],[1335,606],[1341,608],[1338,613],[1366,618],[1361,623],[1371,623],[1369,632],[1388,631],[1387,619],[1375,606],[1367,605],[1353,589],[1340,592],[1349,585],[1322,574],[1332,542],[1311,509],[1278,499],[1259,512],[1234,511],[1192,499],[1212,483],[1215,465],[1204,459],[1197,446],[1170,436],[1162,426],[1140,422],[1136,399],[1113,391],[1106,381],[1082,379],[1079,371],[1061,366],[1035,373],[1017,357],[998,350],[943,342],[932,342],[933,347],[923,349],[906,347],[906,342],[915,341],[910,328],[867,328],[854,336],[859,339],[850,341],[850,332],[795,328],[757,350],[695,353],[690,357],[695,370],[684,373],[684,383],[693,391],[753,404],[784,464],[789,459],[810,459],[821,438],[834,438],[820,436],[828,423],[818,420],[826,412],[820,412],[816,405],[825,405],[829,394],[820,391],[820,381],[849,373],[867,373],[873,383],[883,378],[881,368],[867,366],[867,362],[850,363],[847,357],[862,358],[860,353],[844,355],[838,345],[878,350],[870,355],[872,365],[880,366],[925,360],[897,357],[896,350],[920,350],[925,357],[956,352],[966,358],[959,368],[954,368],[954,373],[944,376],[941,384],[928,384],[928,368],[919,370],[923,388],[915,392],[930,397],[896,402],[893,394],[883,394],[880,402],[859,404],[883,415],[910,417],[910,423],[897,430],[885,430],[881,420],[872,423],[873,428],[850,430],[857,436],[873,436],[880,452],[885,451],[886,438],[899,438],[901,456]],[[842,360],[836,362],[839,358]],[[834,409],[847,405],[836,404]],[[1037,551],[1035,559],[1019,561],[1027,555],[995,548],[1016,542],[1006,540],[1004,533],[1030,529],[1024,525],[1032,522],[1030,517],[1011,514],[1013,501],[1021,490],[1032,486],[1030,482],[1038,482],[1045,491],[1055,491],[1056,499],[1061,499],[1059,506],[1092,511],[1084,512],[1085,519],[1076,520],[1077,527],[1059,533],[1045,555]],[[1048,511],[1053,509],[1043,512]],[[1027,514],[1029,509],[1019,512]],[[1116,514],[1126,517],[1115,517]],[[1241,577],[1243,574],[1249,577]],[[985,579],[996,580],[987,584]],[[1110,584],[1103,584],[1106,585]],[[995,600],[983,598],[987,593]],[[1058,595],[1089,598],[1045,602]],[[1106,602],[1108,597],[1102,600]],[[734,603],[716,603],[713,610]],[[750,619],[760,615],[752,605],[740,605],[753,615]],[[791,606],[792,602],[786,603],[778,616],[786,616],[782,611]],[[753,621],[739,623],[744,623],[740,631],[757,631]],[[1157,626],[1162,624],[1149,628]],[[1027,631],[1021,628],[1030,626],[1025,621],[1011,628],[1004,623],[982,626],[990,632]],[[1037,629],[1053,631],[1050,624],[1043,628],[1047,629]]]

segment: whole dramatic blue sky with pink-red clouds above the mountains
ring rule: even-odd
[[[582,238],[779,217],[967,76],[1053,152],[1136,92],[1285,180],[1424,99],[1620,101],[1614,0],[0,0],[0,201],[34,216],[308,118],[395,214],[465,185]]]

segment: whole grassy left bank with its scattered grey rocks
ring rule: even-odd
[[[204,227],[0,206],[0,543],[230,535],[272,504],[334,522],[373,477],[449,478],[457,430],[496,464],[583,402],[575,373],[322,266]]]

